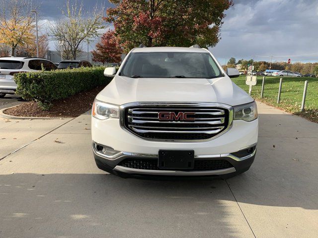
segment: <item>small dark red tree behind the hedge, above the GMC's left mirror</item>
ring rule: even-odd
[[[92,51],[93,60],[103,63],[120,62],[122,53],[118,38],[115,37],[113,30],[108,30],[104,33],[101,41],[96,44],[96,50]]]

